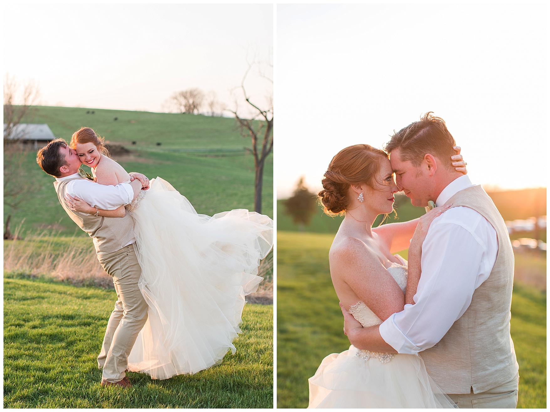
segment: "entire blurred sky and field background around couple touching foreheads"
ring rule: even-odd
[[[507,224],[518,407],[546,407],[546,17],[536,4],[278,5],[279,408],[305,408],[307,378],[349,347],[328,268],[342,218],[317,205],[323,173],[340,149],[383,147],[427,111]],[[384,223],[425,213],[403,194],[395,210]]]

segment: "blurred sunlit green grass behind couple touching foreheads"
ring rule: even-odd
[[[277,232],[278,408],[305,408],[307,378],[324,356],[349,347],[328,267],[333,238]],[[520,366],[518,408],[546,408],[546,292],[514,285],[511,334]]]

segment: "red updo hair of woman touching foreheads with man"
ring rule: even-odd
[[[350,204],[348,189],[352,184],[366,183],[376,188],[382,158],[387,159],[388,154],[370,145],[354,145],[340,150],[321,180],[323,190],[318,197],[324,213],[329,216],[344,214]]]

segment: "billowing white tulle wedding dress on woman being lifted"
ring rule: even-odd
[[[273,245],[272,219],[244,209],[199,215],[158,177],[127,210],[149,305],[128,370],[167,379],[219,364],[235,353],[245,295],[262,281],[256,275]]]

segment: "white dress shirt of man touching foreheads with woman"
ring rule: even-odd
[[[436,206],[470,186],[467,175],[453,180],[437,197]],[[452,207],[433,219],[422,244],[415,305],[405,305],[379,326],[382,339],[405,354],[436,345],[464,314],[474,290],[489,277],[497,251],[496,231],[471,208]]]

